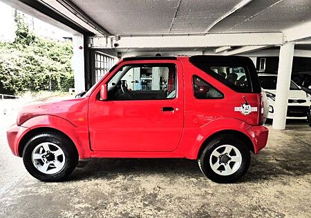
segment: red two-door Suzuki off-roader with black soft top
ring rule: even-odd
[[[246,57],[129,57],[83,96],[35,103],[7,132],[14,155],[42,181],[79,159],[197,159],[209,179],[236,181],[267,143],[263,97]]]

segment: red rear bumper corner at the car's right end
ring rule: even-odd
[[[265,126],[252,126],[247,130],[254,144],[254,154],[265,148],[269,130]]]

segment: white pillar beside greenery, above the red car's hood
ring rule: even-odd
[[[85,90],[83,34],[73,35],[73,72],[75,75],[75,93],[77,94]]]

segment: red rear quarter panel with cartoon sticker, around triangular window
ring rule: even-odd
[[[221,130],[237,130],[251,139],[247,129],[258,125],[261,93],[236,92],[193,66],[187,59],[184,59],[182,64],[185,72],[185,129],[176,152],[196,159],[202,143]],[[194,75],[223,92],[223,99],[196,99],[193,89]],[[250,106],[257,107],[257,112],[243,115],[235,111],[235,107],[245,103],[244,97]]]

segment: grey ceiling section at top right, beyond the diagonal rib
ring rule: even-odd
[[[211,32],[225,28],[235,32],[282,31],[310,20],[310,0],[255,0],[218,23]]]

